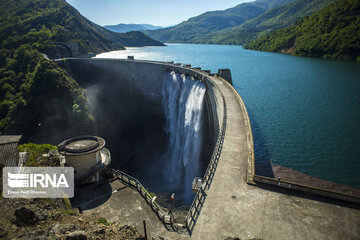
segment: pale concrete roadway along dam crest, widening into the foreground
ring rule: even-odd
[[[166,230],[139,194],[127,193],[131,189],[114,193],[86,212],[99,211],[110,220],[135,223],[140,230],[146,219],[149,232],[168,239],[360,239],[359,209],[246,183],[249,151],[241,105],[227,84],[214,81],[224,94],[228,122],[221,158],[192,236]]]

